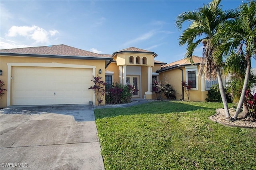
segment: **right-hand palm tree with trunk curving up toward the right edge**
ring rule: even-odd
[[[243,3],[239,9],[239,17],[236,20],[226,21],[221,25],[216,38],[222,39],[222,44],[214,53],[215,61],[222,60],[222,56],[226,57],[228,51],[236,51],[246,61],[243,88],[234,119],[237,119],[244,103],[250,78],[251,58],[256,58],[256,2]]]

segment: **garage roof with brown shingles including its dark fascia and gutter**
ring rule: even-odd
[[[42,47],[26,47],[17,49],[2,49],[1,55],[22,56],[22,57],[46,57],[63,59],[83,59],[83,60],[105,60],[106,66],[113,60],[111,55],[97,54],[90,51],[77,49],[68,45],[50,45]]]

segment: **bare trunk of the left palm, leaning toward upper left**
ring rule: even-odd
[[[226,117],[227,121],[230,121],[231,116],[230,116],[230,113],[229,113],[229,110],[228,110],[228,102],[227,102],[227,98],[226,98],[226,94],[225,94],[225,90],[224,90],[220,70],[217,69],[216,71],[217,71],[217,78],[218,78],[218,83],[219,83],[219,88],[220,88],[220,96],[221,96],[222,103],[223,103],[224,110],[225,110],[225,117]]]

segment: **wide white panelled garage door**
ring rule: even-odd
[[[12,105],[89,104],[92,69],[13,67]]]

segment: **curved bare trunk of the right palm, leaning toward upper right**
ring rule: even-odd
[[[237,119],[238,114],[240,113],[240,110],[244,103],[245,93],[246,93],[248,82],[249,82],[249,77],[250,77],[250,72],[251,72],[251,58],[249,56],[246,56],[246,61],[247,61],[247,66],[246,66],[246,73],[245,73],[245,77],[244,77],[244,85],[243,85],[242,93],[241,93],[241,96],[240,96],[240,99],[239,99],[239,102],[238,102],[238,105],[236,108],[236,113],[233,116],[234,119]]]

